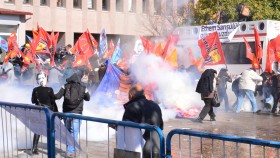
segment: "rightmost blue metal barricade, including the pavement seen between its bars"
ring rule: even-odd
[[[171,144],[172,137],[179,140]],[[185,138],[182,138],[183,136]],[[172,146],[171,146],[172,145]],[[177,146],[178,145],[178,146]],[[175,150],[174,148],[179,148]],[[187,151],[184,152],[183,150]],[[198,149],[197,149],[198,148]],[[246,150],[249,148],[249,150]],[[174,129],[166,138],[167,157],[278,157],[280,142]],[[244,152],[245,151],[245,152]],[[254,151],[254,152],[253,152]],[[177,155],[178,154],[178,155]]]

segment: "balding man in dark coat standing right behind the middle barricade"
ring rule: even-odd
[[[123,121],[145,123],[163,129],[160,107],[155,102],[146,99],[141,87],[134,86],[130,89],[129,101],[124,104],[124,109]],[[159,136],[155,132],[150,133],[146,130],[143,137],[146,141],[143,148],[143,158],[151,156],[151,149],[153,158],[160,157]]]

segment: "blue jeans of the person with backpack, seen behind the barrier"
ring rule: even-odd
[[[80,119],[66,118],[64,119],[64,124],[77,142],[82,121]],[[75,153],[75,147],[71,145],[67,145],[67,154],[74,154],[74,153]]]

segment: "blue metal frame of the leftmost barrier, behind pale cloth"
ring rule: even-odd
[[[45,107],[42,107],[42,106],[34,106],[34,105],[30,105],[30,104],[20,104],[20,103],[9,103],[9,102],[0,102],[0,107],[1,109],[5,109],[6,111],[9,112],[9,110],[12,111],[12,108],[14,108],[14,110],[16,110],[17,108],[19,109],[24,109],[24,110],[38,110],[38,111],[44,111],[45,113],[45,116],[46,116],[46,133],[47,133],[47,148],[48,148],[48,151],[50,151],[51,149],[51,145],[50,145],[50,132],[49,129],[50,129],[50,113],[49,113],[49,110]],[[9,108],[9,109],[8,109]],[[12,114],[10,114],[12,115]],[[24,115],[24,114],[22,114]],[[2,110],[1,110],[1,117],[2,117]],[[3,118],[2,119],[2,126],[3,126]],[[7,122],[6,122],[6,126],[7,126]],[[2,127],[3,129],[4,127]],[[12,130],[12,127],[11,127],[11,130]],[[3,136],[4,136],[4,133],[3,133]],[[7,138],[8,139],[8,138]],[[3,138],[3,141],[4,141],[4,138]],[[4,146],[4,145],[3,145]],[[9,157],[9,155],[7,155]],[[4,157],[5,156],[5,151],[4,151]],[[14,155],[12,155],[12,157],[14,157]],[[48,152],[48,157],[51,158],[51,153]]]

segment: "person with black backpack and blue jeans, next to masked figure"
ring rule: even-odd
[[[80,78],[76,73],[67,78],[66,84],[61,87],[57,94],[55,94],[55,97],[57,99],[60,99],[62,96],[64,97],[62,107],[64,113],[82,115],[84,100],[90,100],[90,94],[87,88],[81,85]],[[68,131],[72,134],[74,139],[77,141],[81,126],[81,120],[65,118],[64,124]],[[67,145],[66,155],[68,157],[75,157],[75,148],[73,146]]]

